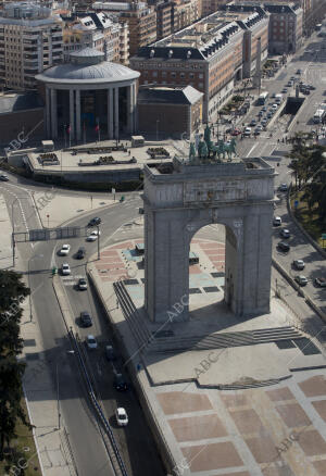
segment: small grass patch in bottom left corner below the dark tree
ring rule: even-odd
[[[22,406],[27,415],[25,400]],[[16,426],[17,439],[11,441],[5,462],[0,463],[0,475],[5,476],[41,476],[38,455],[34,443],[33,433],[20,421]]]

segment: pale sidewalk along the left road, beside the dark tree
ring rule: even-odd
[[[2,196],[0,197],[0,223],[1,256],[4,255],[0,261],[0,268],[4,270],[12,266],[12,227]],[[16,263],[17,268],[24,270],[25,263],[17,249]],[[45,359],[39,325],[35,321],[29,302],[28,299],[25,299],[22,304],[21,336],[24,339],[24,349],[20,360],[26,362],[23,385],[30,423],[36,427],[34,430],[35,444],[45,476],[72,476],[76,473],[70,456],[67,435],[63,418],[61,418],[61,429],[58,429],[57,392]],[[30,321],[30,315],[33,315],[33,321]],[[33,460],[35,460],[35,455],[28,454],[26,464]]]

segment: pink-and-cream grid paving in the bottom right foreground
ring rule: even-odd
[[[325,476],[326,380],[321,371],[309,375],[242,391],[161,387],[180,466],[191,475]]]

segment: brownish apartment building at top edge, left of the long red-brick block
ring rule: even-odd
[[[129,53],[135,54],[138,48],[156,40],[156,12],[154,7],[145,2],[95,2],[96,12],[118,14],[121,23],[127,23],[129,29]]]

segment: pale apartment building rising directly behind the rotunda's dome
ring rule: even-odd
[[[117,15],[105,12],[83,14],[65,18],[63,29],[64,60],[70,53],[84,48],[96,48],[106,61],[128,64],[128,25],[118,22]]]

